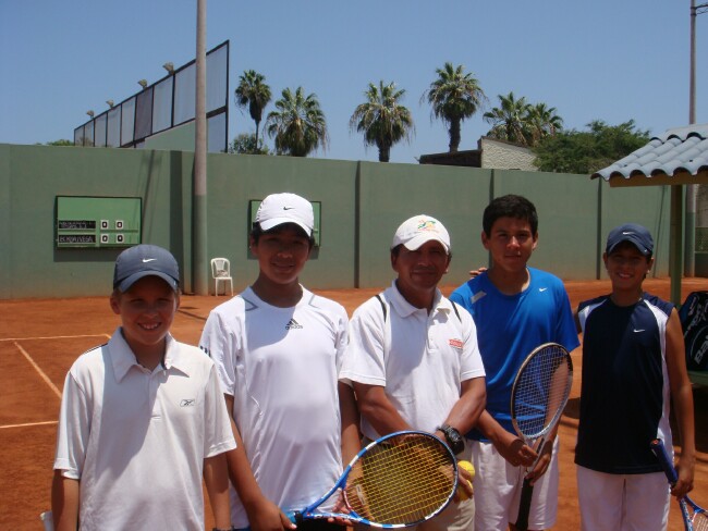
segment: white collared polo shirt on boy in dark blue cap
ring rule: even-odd
[[[54,469],[80,480],[82,530],[204,529],[204,459],[235,446],[213,362],[171,335],[154,371],[119,328],[66,375]]]

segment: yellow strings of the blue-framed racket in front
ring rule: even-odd
[[[403,435],[392,442],[354,464],[344,490],[346,502],[374,522],[422,521],[452,495],[454,458],[430,436]]]

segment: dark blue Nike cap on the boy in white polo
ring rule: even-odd
[[[157,245],[136,245],[115,259],[113,288],[127,292],[133,284],[149,275],[159,276],[176,292],[180,268],[172,254]]]

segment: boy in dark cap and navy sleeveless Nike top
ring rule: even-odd
[[[602,255],[612,293],[578,305],[583,386],[575,448],[583,529],[667,529],[667,478],[650,449],[661,439],[672,455],[673,399],[681,435],[679,481],[693,489],[693,392],[683,331],[671,302],[644,292],[654,239],[627,223],[608,235]]]

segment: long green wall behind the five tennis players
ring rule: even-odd
[[[0,145],[0,298],[106,295],[120,248],[57,249],[57,196],[141,197],[143,242],[169,248],[193,291],[192,171],[188,151]],[[532,266],[565,280],[603,277],[610,229],[634,221],[657,239],[656,275],[668,274],[669,189],[610,188],[587,175],[419,164],[209,153],[207,248],[232,262],[234,289],[248,285],[248,203],[276,192],[321,201],[321,247],[302,282],[313,288],[390,283],[388,249],[416,213],[439,218],[452,238],[443,282],[457,284],[488,264],[481,213],[491,197],[535,202],[539,243]],[[213,283],[209,284],[213,289]]]

